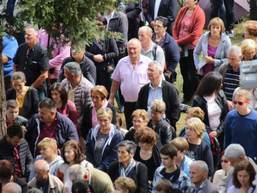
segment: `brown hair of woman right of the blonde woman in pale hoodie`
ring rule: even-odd
[[[85,159],[85,155],[82,153],[82,147],[81,147],[80,143],[77,142],[76,140],[70,140],[70,141],[66,142],[63,145],[63,148],[62,148],[62,153],[61,154],[62,154],[62,158],[63,158],[64,163],[69,164],[69,162],[67,162],[67,160],[65,158],[65,155],[64,155],[66,146],[70,146],[74,149],[74,152],[75,152],[74,162],[75,162],[75,164],[80,164]]]

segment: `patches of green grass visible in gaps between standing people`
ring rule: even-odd
[[[206,0],[207,1],[207,0]],[[181,1],[180,1],[181,2]],[[185,3],[185,2],[184,2]],[[245,15],[243,17],[243,23],[249,20],[249,14]],[[234,34],[235,36],[233,38],[231,38],[231,44],[232,45],[239,45],[240,42],[242,40],[244,40],[243,38],[243,33],[244,33],[244,28],[243,28],[243,23],[239,24],[239,25],[235,25],[234,26]],[[208,30],[204,30],[203,33],[205,33]],[[201,56],[201,59],[203,59],[203,56]],[[177,65],[176,68],[176,72],[177,72],[177,81],[174,82],[174,85],[176,86],[178,92],[179,92],[179,100],[182,99],[183,97],[183,93],[182,93],[182,84],[183,84],[183,79],[180,73],[180,67],[179,64]],[[187,105],[191,106],[191,102],[188,102]],[[118,106],[117,103],[115,102],[115,107],[118,111]],[[122,128],[126,128],[126,124],[125,124],[125,117],[124,114],[121,114],[122,116]],[[186,117],[186,113],[181,113],[180,115],[180,119],[177,121],[176,127],[177,127],[177,134],[179,133],[179,131],[182,129],[182,127],[185,126],[185,117]]]

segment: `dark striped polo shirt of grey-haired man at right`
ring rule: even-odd
[[[227,100],[232,101],[234,90],[240,86],[239,84],[240,71],[239,68],[233,71],[232,66],[229,64],[227,68],[227,73],[224,80],[224,93]]]

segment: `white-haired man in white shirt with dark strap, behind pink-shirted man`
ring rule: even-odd
[[[151,58],[153,61],[158,61],[162,64],[164,69],[165,56],[160,46],[152,41],[153,30],[144,26],[138,31],[138,37],[142,45],[141,55]],[[163,71],[163,70],[162,70]]]

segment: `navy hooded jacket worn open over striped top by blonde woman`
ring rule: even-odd
[[[102,164],[97,167],[95,161],[95,147],[96,147],[96,136],[99,130],[99,124],[90,129],[86,138],[86,161],[93,164],[94,168],[106,172],[109,165],[118,160],[118,147],[117,145],[122,142],[122,136],[120,132],[116,129],[116,126],[111,124],[111,130],[106,138],[103,153],[102,153]]]

